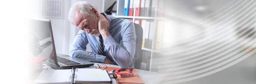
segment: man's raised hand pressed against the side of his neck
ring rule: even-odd
[[[102,35],[103,40],[105,40],[109,35],[109,23],[110,20],[107,20],[106,17],[99,13],[99,33]]]

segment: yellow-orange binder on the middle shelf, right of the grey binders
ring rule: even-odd
[[[156,33],[156,45],[155,50],[161,51],[162,50],[162,43],[163,43],[163,29],[164,29],[164,21],[159,20],[157,21],[157,33]]]

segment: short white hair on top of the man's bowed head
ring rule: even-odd
[[[73,23],[74,17],[77,18],[77,12],[80,12],[81,14],[84,14],[84,16],[92,15],[91,8],[93,8],[90,3],[87,3],[86,1],[78,1],[73,6],[71,6],[68,20]]]

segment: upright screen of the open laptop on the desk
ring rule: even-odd
[[[30,55],[39,58],[55,56],[50,20],[29,20]]]

